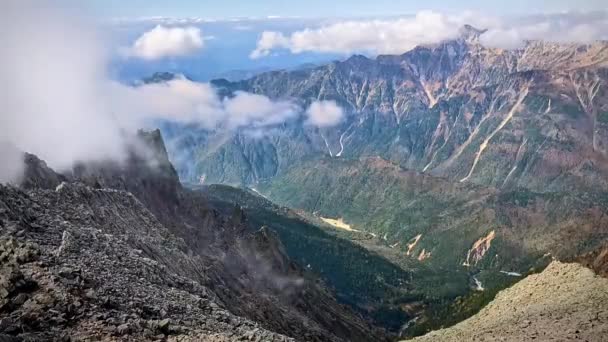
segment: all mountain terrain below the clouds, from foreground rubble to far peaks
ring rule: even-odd
[[[0,341],[600,341],[608,43],[481,34],[211,82],[335,101],[333,127],[160,122],[62,172],[23,154]]]

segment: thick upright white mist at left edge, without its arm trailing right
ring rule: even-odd
[[[123,136],[100,81],[108,60],[103,39],[76,19],[82,16],[56,8],[0,3],[0,141],[57,168],[121,156]]]

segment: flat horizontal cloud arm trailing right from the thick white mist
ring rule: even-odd
[[[236,92],[221,99],[208,83],[175,79],[166,83],[128,87],[115,83],[114,99],[120,105],[124,127],[137,128],[149,120],[197,124],[206,129],[266,127],[296,117],[302,110],[290,101]]]

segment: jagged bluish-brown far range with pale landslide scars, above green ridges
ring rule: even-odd
[[[348,115],[334,128],[295,122],[262,138],[173,130],[171,150],[194,157],[178,163],[181,176],[248,184],[323,155],[378,155],[498,188],[606,189],[608,44],[529,42],[508,51],[478,36],[467,27],[459,39],[400,56],[216,81],[225,94],[335,100]]]

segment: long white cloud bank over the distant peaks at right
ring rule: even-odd
[[[401,54],[418,45],[440,43],[459,36],[465,24],[488,29],[481,36],[492,47],[517,48],[525,40],[589,42],[608,38],[608,12],[566,12],[522,18],[499,18],[474,12],[442,14],[422,11],[391,20],[349,20],[284,34],[263,32],[252,59],[273,50],[291,53]]]

